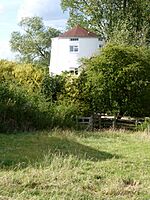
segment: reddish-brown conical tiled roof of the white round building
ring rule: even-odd
[[[67,38],[67,37],[98,37],[98,36],[95,33],[90,32],[87,29],[77,25],[76,27],[70,29],[69,31],[65,32],[59,37]]]

